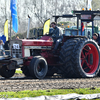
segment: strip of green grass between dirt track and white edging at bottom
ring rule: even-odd
[[[100,88],[52,89],[52,90],[34,90],[34,91],[26,90],[26,91],[17,91],[17,92],[0,92],[0,96],[5,96],[5,98],[24,98],[24,97],[37,97],[41,95],[46,95],[46,96],[64,95],[70,93],[94,94],[94,93],[100,93]],[[95,100],[99,100],[99,99],[95,99]]]

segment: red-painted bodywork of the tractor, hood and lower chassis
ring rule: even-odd
[[[22,55],[24,57],[24,46],[49,46],[53,48],[53,39],[50,36],[43,36],[41,39],[33,39],[33,40],[22,40]],[[52,49],[51,50],[41,50],[41,56],[43,56],[48,65],[56,65],[58,61],[58,56],[53,55]],[[28,57],[28,59],[32,59],[33,56]],[[24,65],[29,65],[30,61],[24,63]]]

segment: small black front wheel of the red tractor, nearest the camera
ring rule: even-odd
[[[29,72],[33,78],[43,79],[48,71],[46,60],[42,56],[35,56],[30,62]]]

